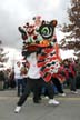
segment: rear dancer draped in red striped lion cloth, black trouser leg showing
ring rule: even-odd
[[[66,96],[61,86],[64,77],[61,74],[58,53],[56,53],[56,48],[44,48],[43,50],[39,51],[38,67],[41,68],[40,73],[42,79],[46,82],[52,81],[57,87],[58,92],[61,96]]]

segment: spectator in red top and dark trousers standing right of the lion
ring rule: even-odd
[[[68,59],[63,60],[64,73],[67,82],[69,82],[70,90],[72,93],[78,93],[76,88],[76,68],[72,61]]]

